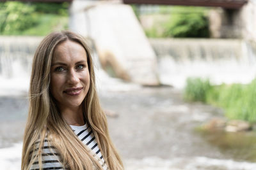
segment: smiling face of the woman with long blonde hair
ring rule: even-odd
[[[51,64],[51,94],[60,109],[77,108],[90,87],[86,51],[74,41],[56,46]]]

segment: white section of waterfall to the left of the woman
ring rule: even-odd
[[[28,92],[31,62],[41,37],[0,37],[0,94]]]

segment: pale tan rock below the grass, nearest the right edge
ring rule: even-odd
[[[225,127],[226,132],[241,132],[241,131],[249,131],[252,129],[252,125],[243,120],[230,120],[227,122]]]

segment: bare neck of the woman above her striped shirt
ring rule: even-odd
[[[61,115],[67,121],[68,125],[84,125],[82,106],[77,108],[61,108]]]

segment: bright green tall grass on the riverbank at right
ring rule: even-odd
[[[209,80],[189,78],[184,91],[187,101],[202,101],[225,110],[229,119],[256,122],[256,79],[248,85],[214,86]]]

